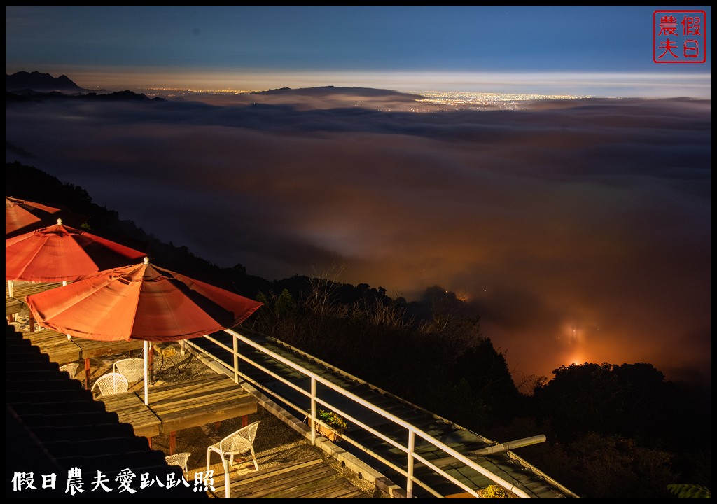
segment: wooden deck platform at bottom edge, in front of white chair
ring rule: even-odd
[[[353,485],[325,460],[305,457],[275,467],[242,475],[232,471],[229,480],[232,499],[361,499],[375,498]],[[209,497],[225,498],[224,474],[214,474]]]

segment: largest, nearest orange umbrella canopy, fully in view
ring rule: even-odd
[[[262,303],[145,262],[26,298],[39,325],[100,341],[179,341],[242,323]]]

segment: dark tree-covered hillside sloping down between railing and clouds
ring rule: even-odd
[[[407,303],[367,284],[299,275],[271,282],[162,243],[79,186],[17,162],[5,168],[6,196],[67,206],[93,233],[143,244],[158,266],[261,300],[244,323],[255,331],[489,439],[545,434],[547,442],[518,455],[583,498],[671,498],[674,483],[711,488],[711,390],[665,381],[648,363],[586,362],[536,377],[525,396],[481,335],[480,318],[441,287]]]

